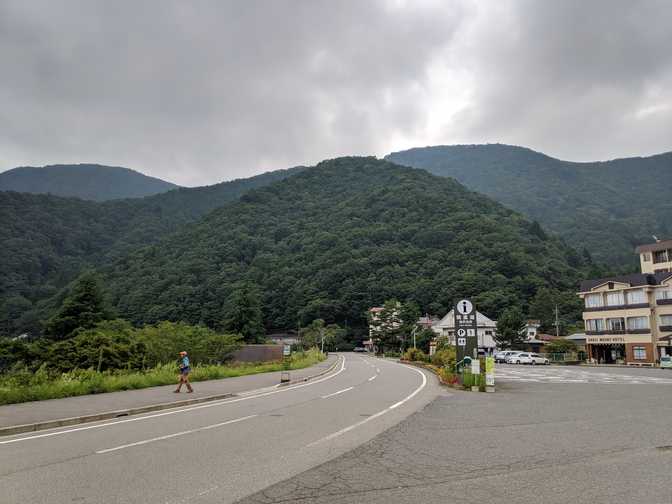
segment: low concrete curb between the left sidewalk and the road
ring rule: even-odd
[[[320,376],[323,376],[327,373],[330,373],[334,370],[336,365],[341,362],[341,357],[336,359],[336,361],[329,366],[324,371],[320,371],[317,374],[306,376],[300,380],[294,380],[287,383],[284,383],[283,386],[294,385],[296,383],[303,383]],[[236,397],[236,394],[226,393],[226,394],[216,394],[206,397],[198,397],[194,399],[185,399],[184,401],[173,401],[168,403],[159,403],[159,404],[150,404],[148,406],[139,406],[137,408],[128,408],[115,411],[106,411],[103,413],[94,413],[91,415],[82,415],[78,417],[71,418],[60,418],[57,420],[46,420],[44,422],[36,422],[31,424],[22,424],[22,425],[10,425],[8,427],[0,427],[0,437],[2,436],[11,436],[12,434],[22,434],[24,432],[35,432],[45,429],[53,429],[56,427],[67,427],[68,425],[77,425],[82,423],[98,422],[101,420],[110,420],[112,418],[119,418],[131,415],[140,415],[142,413],[149,413],[152,411],[161,411],[165,409],[172,408],[181,408],[183,406],[191,406],[192,404],[199,404],[204,402],[218,401],[220,399],[228,399],[230,397]]]

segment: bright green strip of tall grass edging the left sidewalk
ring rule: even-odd
[[[325,359],[317,349],[296,352],[289,366],[283,362],[231,365],[195,365],[189,375],[191,381],[233,378],[283,369],[303,369]],[[177,383],[175,364],[163,364],[145,371],[104,371],[80,369],[68,373],[53,373],[46,368],[36,372],[18,370],[0,376],[0,405],[28,401],[42,401],[86,394],[134,390]]]

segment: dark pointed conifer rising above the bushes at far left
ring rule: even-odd
[[[90,329],[112,318],[95,273],[80,276],[59,311],[46,324],[45,333],[54,340],[71,337],[78,329]]]

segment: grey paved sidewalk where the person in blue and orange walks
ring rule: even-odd
[[[290,380],[292,382],[303,381],[323,374],[336,364],[337,359],[336,355],[331,354],[326,360],[314,366],[290,371]],[[280,372],[278,371],[195,382],[193,383],[193,394],[185,392],[174,394],[173,390],[176,385],[164,385],[140,390],[8,404],[0,406],[0,435],[56,427],[58,425],[48,423],[59,421],[62,421],[61,425],[73,425],[85,421],[183,406],[185,402],[188,404],[222,399],[245,391],[272,387],[279,383]],[[140,409],[144,411],[137,411]],[[102,416],[102,418],[83,418],[95,415]],[[26,428],[18,429],[18,426],[26,426]]]

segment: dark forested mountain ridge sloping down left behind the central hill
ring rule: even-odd
[[[0,192],[0,334],[36,332],[41,302],[83,269],[154,243],[246,191],[301,169],[106,202]]]

